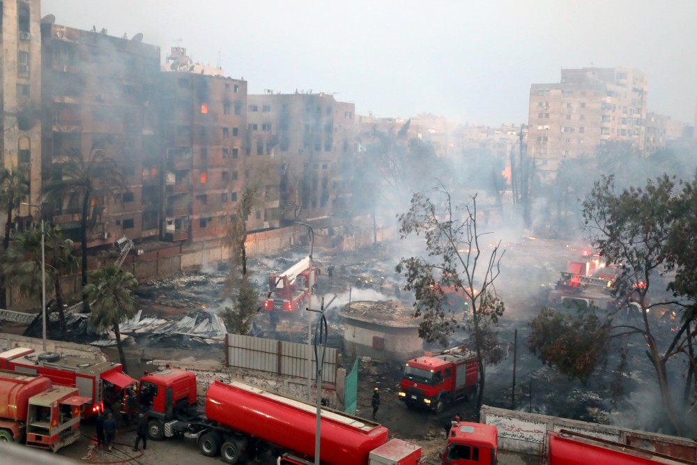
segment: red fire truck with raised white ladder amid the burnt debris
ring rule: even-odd
[[[264,310],[269,312],[295,312],[309,300],[310,289],[317,282],[319,270],[310,270],[309,257],[298,261],[279,275],[268,277],[268,298]]]

